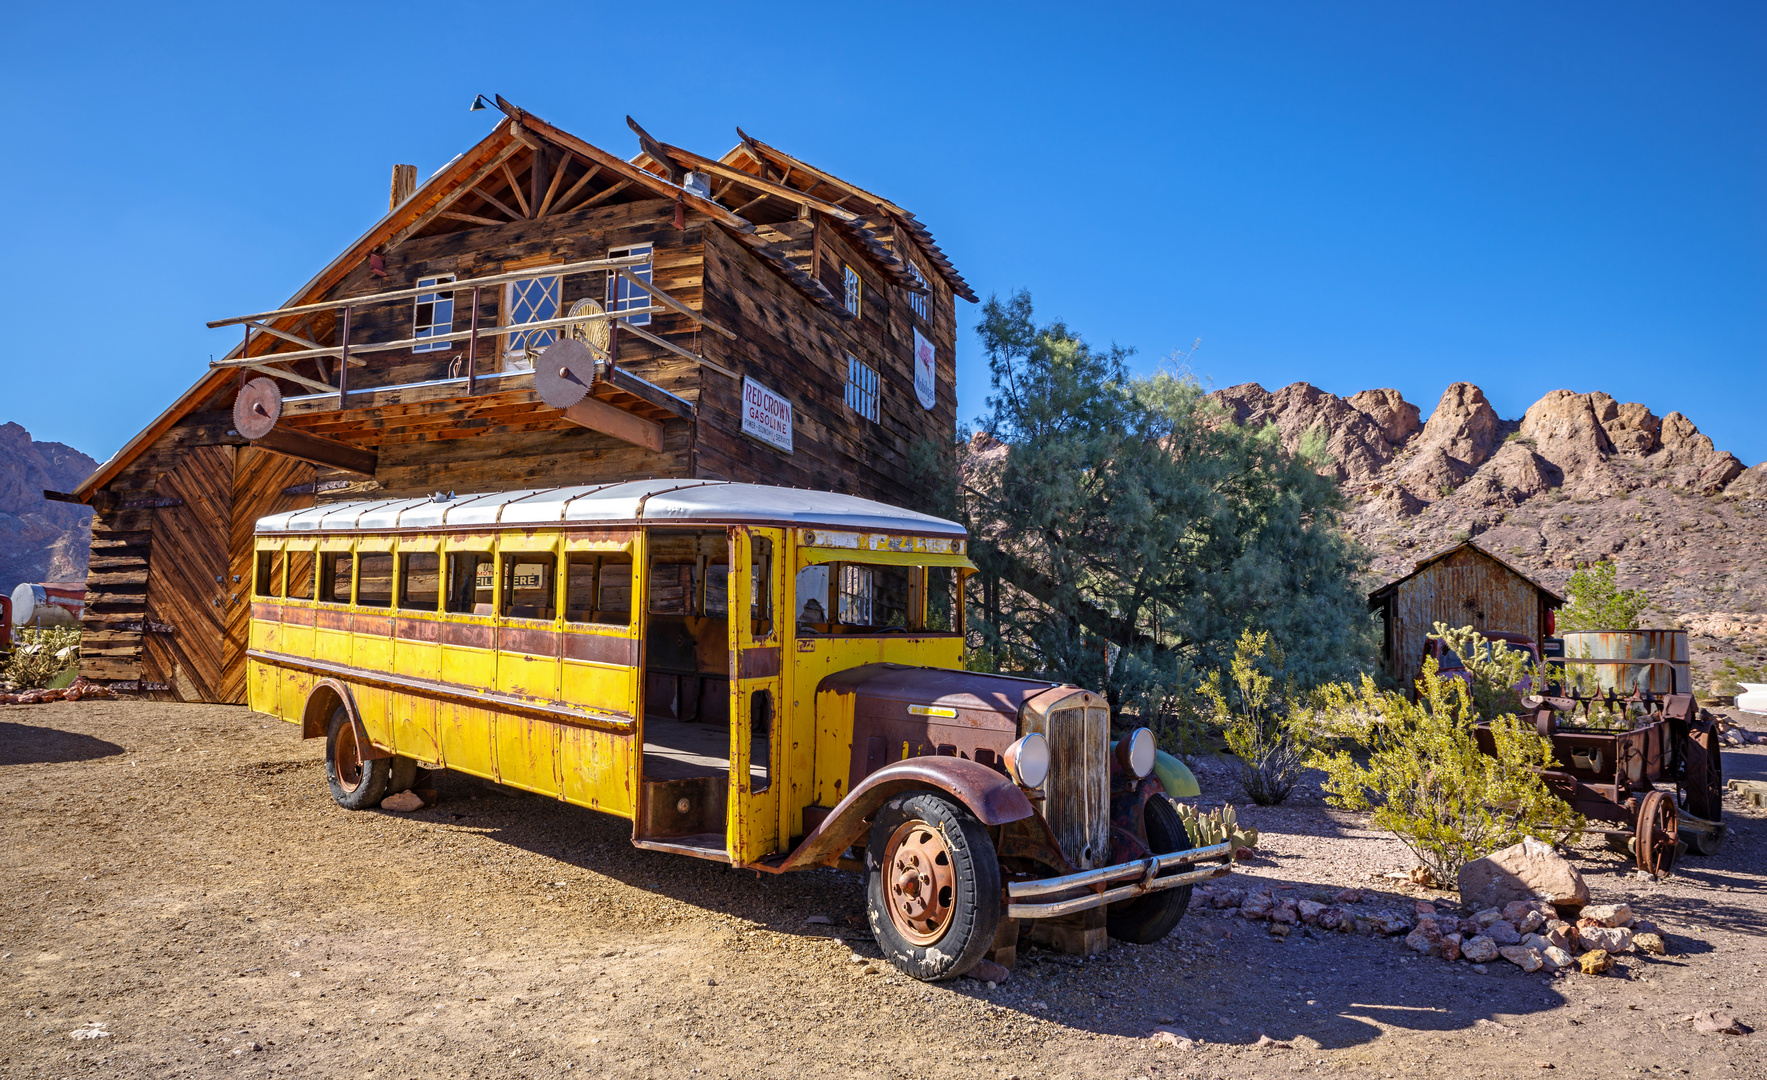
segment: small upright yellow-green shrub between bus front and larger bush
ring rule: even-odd
[[[1202,686],[1221,737],[1239,758],[1239,783],[1258,806],[1276,806],[1295,790],[1311,748],[1309,728],[1288,707],[1293,686],[1274,693],[1281,673],[1283,654],[1270,645],[1270,635],[1248,629],[1233,645],[1232,686],[1223,686],[1221,672]]]

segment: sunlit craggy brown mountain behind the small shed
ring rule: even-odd
[[[1468,537],[1558,590],[1578,564],[1612,559],[1624,587],[1650,594],[1647,620],[1691,631],[1702,689],[1726,659],[1767,663],[1767,463],[1746,468],[1679,412],[1553,391],[1505,421],[1468,382],[1428,419],[1398,391],[1242,384],[1210,398],[1240,424],[1276,424],[1290,449],[1323,445],[1373,583]]]

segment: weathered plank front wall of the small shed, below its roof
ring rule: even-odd
[[[1541,638],[1539,589],[1502,562],[1470,548],[1426,566],[1394,590],[1389,672],[1412,686],[1437,622]]]

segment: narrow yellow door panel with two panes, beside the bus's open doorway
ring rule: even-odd
[[[785,530],[730,529],[730,799],[735,864],[779,850],[785,748]]]

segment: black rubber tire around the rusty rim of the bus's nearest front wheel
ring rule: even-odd
[[[949,916],[937,940],[910,940],[891,912],[892,877],[884,859],[891,838],[914,824],[935,834],[949,857],[951,894],[944,901]],[[866,916],[884,956],[915,979],[954,979],[975,967],[1000,928],[1000,864],[988,829],[949,795],[921,792],[885,802],[871,822],[866,845]]]

